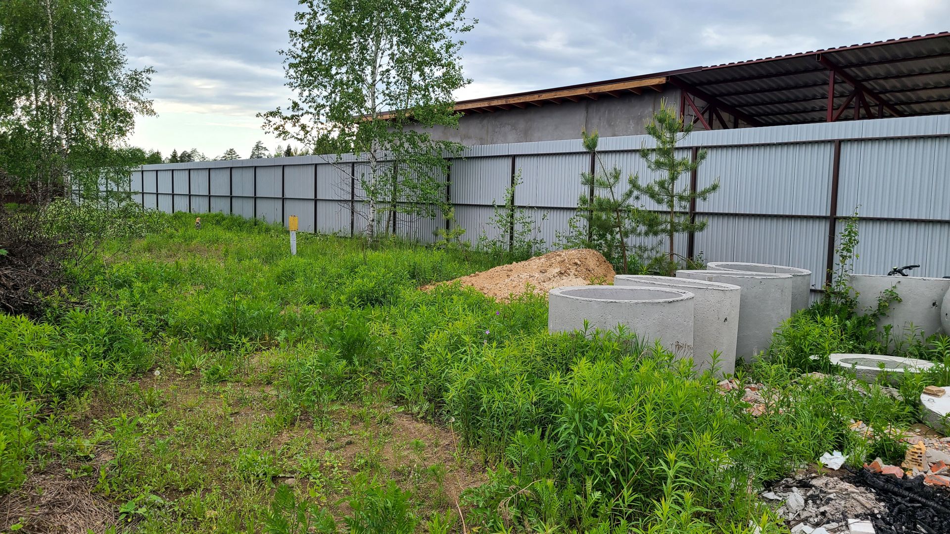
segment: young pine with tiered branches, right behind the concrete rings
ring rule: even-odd
[[[640,158],[646,162],[651,172],[659,173],[655,181],[643,184],[639,176],[630,180],[630,188],[637,196],[646,197],[663,207],[663,212],[641,210],[638,222],[643,225],[647,236],[663,236],[669,247],[668,267],[664,270],[671,275],[676,270],[674,238],[676,234],[702,232],[706,229],[705,220],[695,221],[688,215],[690,204],[695,200],[709,200],[710,195],[719,189],[719,179],[698,189],[690,190],[690,185],[680,185],[679,179],[696,171],[709,156],[707,150],[696,152],[695,159],[678,157],[676,144],[686,139],[693,131],[693,124],[684,124],[677,116],[674,107],[664,101],[654,113],[653,119],[646,125],[647,135],[654,139],[656,146],[639,151]]]

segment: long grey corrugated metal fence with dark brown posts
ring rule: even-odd
[[[607,167],[651,180],[637,154],[646,136],[604,138]],[[831,267],[841,219],[860,207],[856,272],[885,274],[919,263],[918,276],[950,275],[950,116],[911,117],[695,132],[684,154],[709,150],[694,188],[719,179],[721,188],[692,209],[709,221],[705,232],[675,243],[684,256],[753,261],[810,269],[821,287]],[[541,237],[557,234],[577,212],[580,173],[593,162],[580,140],[473,146],[452,161],[447,196],[466,238],[490,228],[492,202],[520,173],[515,203],[534,214]],[[271,221],[296,215],[300,228],[341,235],[365,228],[356,177],[365,162],[320,156],[145,165],[130,190],[145,207],[191,213],[222,212]],[[625,186],[624,181],[624,186]],[[684,186],[686,183],[684,183]],[[647,202],[647,208],[656,208]],[[400,216],[403,217],[403,216]],[[398,234],[424,242],[446,220],[399,219]]]

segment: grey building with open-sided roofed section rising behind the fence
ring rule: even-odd
[[[950,112],[950,32],[456,103],[466,145],[639,135],[666,99],[696,130]]]

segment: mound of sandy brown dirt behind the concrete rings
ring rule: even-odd
[[[546,294],[556,287],[613,283],[614,275],[614,267],[596,250],[573,249],[549,252],[456,280],[487,296],[507,298],[523,294],[529,286]]]

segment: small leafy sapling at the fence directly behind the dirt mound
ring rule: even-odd
[[[522,183],[522,172],[518,171],[513,183],[504,189],[504,203],[499,205],[491,201],[492,214],[485,226],[490,228],[479,233],[478,246],[486,253],[497,257],[499,263],[523,261],[546,252],[546,244],[541,237],[541,220],[528,209],[515,206],[515,190]],[[494,235],[494,237],[490,237]]]

